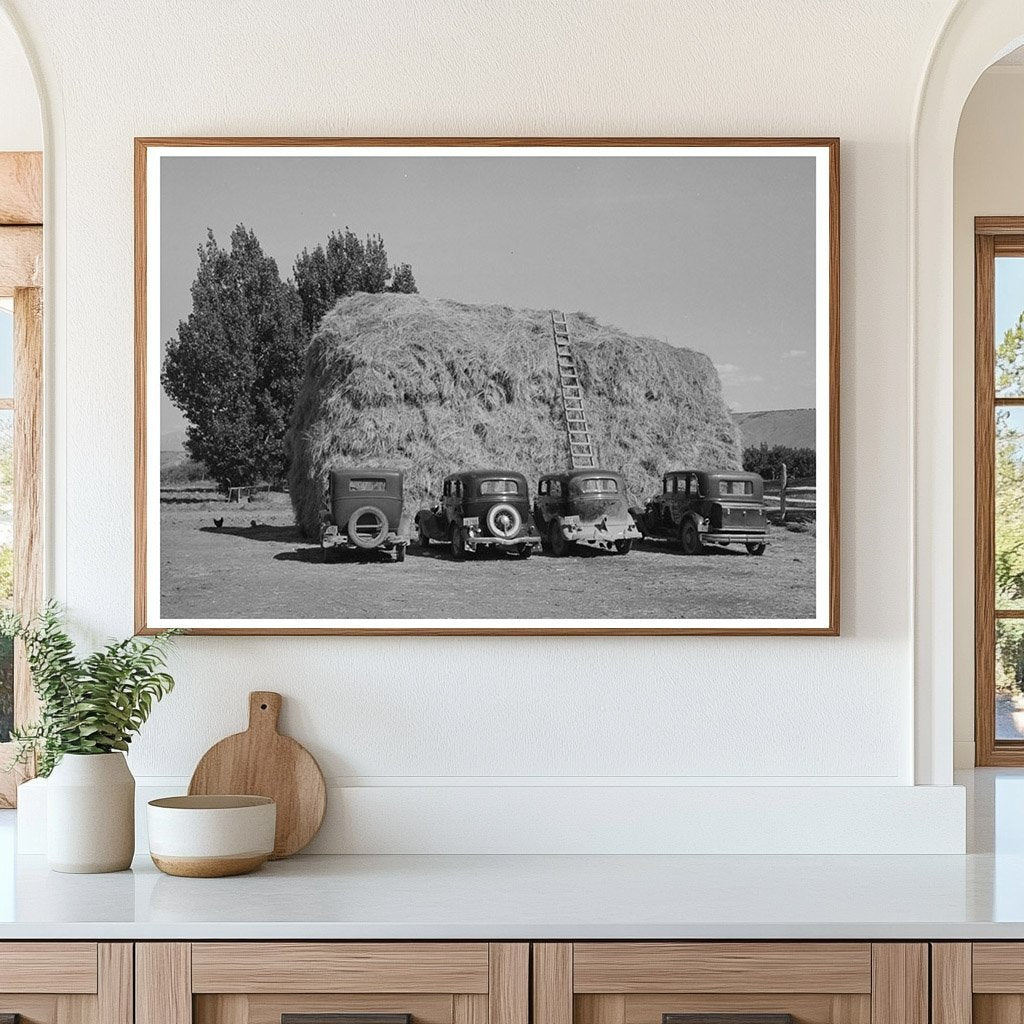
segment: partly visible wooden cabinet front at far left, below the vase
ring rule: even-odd
[[[0,1020],[132,1024],[126,942],[0,942]]]

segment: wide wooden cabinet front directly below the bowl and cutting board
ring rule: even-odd
[[[528,948],[140,943],[136,1024],[528,1024]]]

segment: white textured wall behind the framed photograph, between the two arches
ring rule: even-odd
[[[945,0],[6,6],[53,119],[51,589],[92,639],[132,626],[132,136],[843,139],[841,639],[183,639],[138,774],[186,776],[263,687],[351,807],[509,782],[527,809],[552,783],[909,786],[908,156]],[[957,807],[934,812],[953,845]],[[860,813],[898,842],[885,808]]]

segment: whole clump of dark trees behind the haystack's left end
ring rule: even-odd
[[[360,240],[347,227],[303,249],[294,274],[283,282],[243,224],[228,249],[209,231],[191,312],[167,345],[163,384],[188,421],[185,451],[225,488],[284,479],[305,349],[338,299],[417,290],[413,268],[392,267],[379,234]]]

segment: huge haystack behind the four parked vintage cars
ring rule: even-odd
[[[671,467],[739,466],[738,431],[701,352],[566,315],[602,467],[631,497]],[[296,521],[318,530],[334,466],[404,469],[407,508],[459,469],[518,469],[530,485],[568,466],[550,313],[420,295],[352,295],[306,354],[290,435]]]

